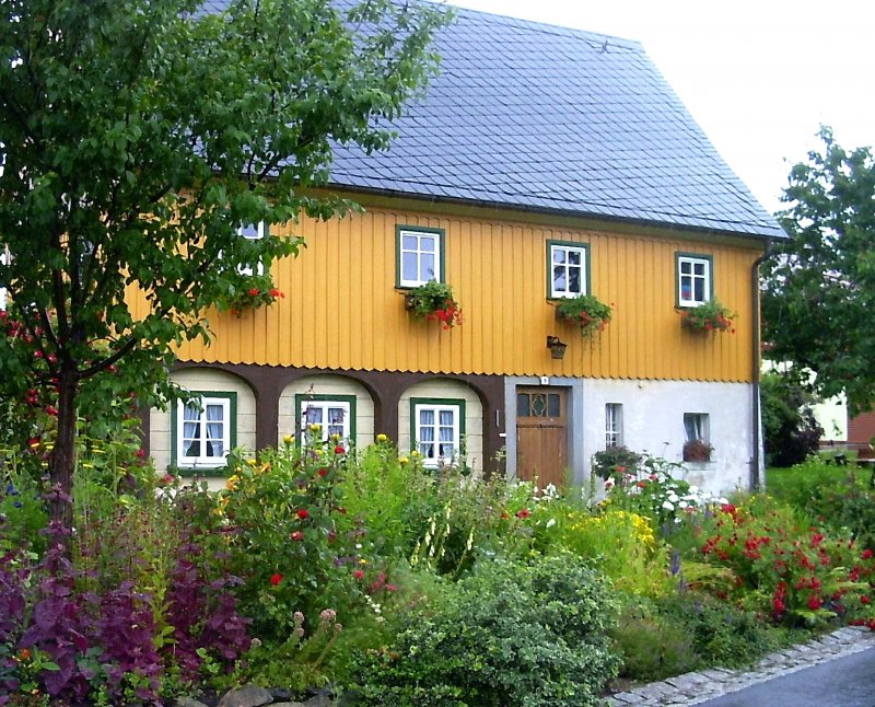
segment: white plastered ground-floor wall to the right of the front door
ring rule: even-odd
[[[622,441],[635,451],[681,461],[684,414],[709,416],[710,462],[685,464],[679,474],[713,492],[748,489],[752,457],[752,386],[746,383],[586,380],[583,386],[583,445],[590,457],[605,449],[605,404],[622,405]]]

